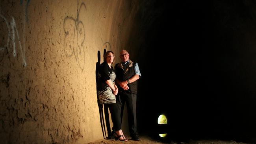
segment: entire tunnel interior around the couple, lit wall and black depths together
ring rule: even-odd
[[[256,1],[2,0],[0,9],[0,143],[102,143],[111,121],[96,105],[97,66],[108,50],[119,63],[123,48],[142,75],[139,136],[256,143]]]

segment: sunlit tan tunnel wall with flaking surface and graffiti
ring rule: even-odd
[[[103,62],[104,49],[129,50],[137,5],[132,0],[0,1],[2,144],[103,138],[97,54]]]

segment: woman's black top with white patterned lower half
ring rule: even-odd
[[[111,80],[114,83],[115,71],[113,67],[109,68],[108,63],[103,62],[100,65],[99,70],[99,80],[97,83],[97,94],[100,104],[103,103],[116,103],[115,95],[113,94],[111,88],[107,85],[106,81]]]

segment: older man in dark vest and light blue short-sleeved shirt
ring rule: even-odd
[[[129,53],[126,50],[121,50],[120,58],[122,62],[115,65],[115,81],[117,82],[117,87],[119,89],[116,100],[117,107],[121,114],[121,121],[124,111],[124,103],[126,103],[130,136],[132,137],[132,140],[138,141],[136,101],[137,79],[141,77],[141,73],[138,64],[131,61],[129,56]]]

